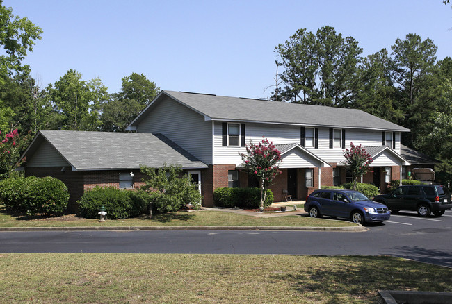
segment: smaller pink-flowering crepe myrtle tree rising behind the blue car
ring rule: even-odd
[[[372,162],[371,155],[361,145],[355,146],[353,142],[350,142],[350,149],[344,150],[344,158],[346,158],[346,169],[352,174],[353,190],[356,191],[358,176],[371,171],[369,167]]]

